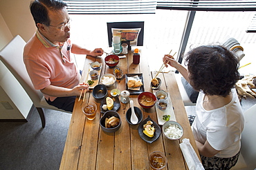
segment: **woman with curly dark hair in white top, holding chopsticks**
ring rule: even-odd
[[[192,131],[205,169],[230,169],[239,151],[244,116],[234,85],[239,61],[225,47],[203,45],[188,52],[188,70],[165,55],[163,62],[178,70],[199,91]]]

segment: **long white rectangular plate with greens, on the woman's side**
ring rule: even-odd
[[[164,90],[164,91],[167,92],[167,94],[168,94],[167,100],[170,103],[170,105],[165,110],[161,110],[161,109],[158,109],[158,106],[157,106],[157,103],[156,103],[156,114],[157,114],[158,125],[163,125],[166,122],[165,120],[163,120],[163,115],[168,115],[169,114],[170,115],[170,120],[176,121],[175,114],[174,114],[174,109],[172,107],[172,100],[170,98],[170,94],[169,94],[167,89]],[[156,95],[156,93],[155,93],[155,95]]]

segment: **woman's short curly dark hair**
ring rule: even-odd
[[[239,60],[221,45],[196,47],[185,57],[190,84],[208,95],[226,97],[239,79]]]

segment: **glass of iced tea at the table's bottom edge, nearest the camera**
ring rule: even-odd
[[[149,155],[149,164],[154,170],[163,169],[167,164],[167,158],[161,151],[153,151]]]

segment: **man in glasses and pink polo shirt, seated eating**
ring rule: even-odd
[[[71,43],[66,3],[35,0],[30,4],[37,32],[24,47],[24,63],[35,89],[49,105],[73,111],[76,96],[88,85],[79,85],[80,74],[71,59],[74,54],[101,56],[103,50],[86,50]]]

